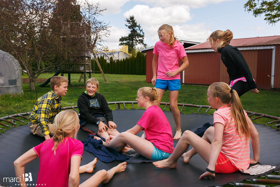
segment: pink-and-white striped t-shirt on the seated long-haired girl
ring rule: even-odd
[[[247,117],[246,112],[244,111]],[[222,123],[224,126],[221,153],[228,158],[236,168],[246,170],[250,164],[249,138],[241,137],[237,132],[236,124],[232,118],[231,107],[221,108],[214,112],[215,123]]]

